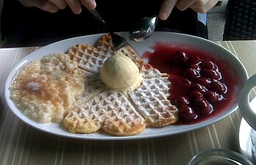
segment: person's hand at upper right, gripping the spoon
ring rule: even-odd
[[[191,8],[195,12],[205,13],[217,2],[218,0],[164,0],[158,16],[161,20],[166,20],[174,7],[181,11]]]

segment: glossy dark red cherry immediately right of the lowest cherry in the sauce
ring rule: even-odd
[[[213,112],[213,105],[205,99],[196,100],[195,107],[202,116],[207,116]]]

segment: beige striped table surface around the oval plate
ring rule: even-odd
[[[238,56],[249,76],[256,73],[256,40],[216,43]],[[0,164],[185,165],[202,150],[240,152],[238,132],[242,117],[238,110],[196,131],[126,141],[68,139],[26,125],[5,103],[4,84],[15,64],[38,48],[0,48]]]

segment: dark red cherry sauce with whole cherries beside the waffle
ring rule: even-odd
[[[168,99],[179,109],[175,125],[202,122],[226,109],[238,83],[228,62],[191,45],[158,42],[152,49],[142,58],[170,75]]]

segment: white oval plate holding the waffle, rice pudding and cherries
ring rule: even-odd
[[[122,32],[124,37],[128,40],[128,33]],[[68,48],[78,44],[78,43],[89,43],[94,44],[96,40],[102,34],[93,34],[88,36],[82,37],[74,37],[67,40],[61,40],[56,43],[51,43],[46,45],[37,51],[32,52],[28,56],[25,56],[24,59],[21,59],[17,65],[11,70],[10,75],[7,78],[5,84],[5,99],[7,101],[7,105],[10,107],[10,110],[22,121],[26,122],[27,124],[31,125],[33,128],[37,128],[40,131],[45,131],[47,133],[52,133],[57,136],[65,136],[68,138],[75,138],[75,139],[96,139],[96,140],[124,140],[124,139],[146,139],[146,138],[153,138],[159,136],[169,136],[177,133],[184,133],[187,131],[193,131],[198,128],[205,127],[207,125],[213,124],[219,120],[222,120],[224,117],[227,117],[233,111],[238,109],[238,95],[241,92],[242,84],[248,79],[248,74],[246,73],[245,68],[243,67],[242,63],[238,60],[236,56],[234,56],[230,51],[227,51],[226,48],[221,47],[220,45],[213,43],[209,40],[202,39],[200,37],[193,37],[187,34],[177,34],[171,32],[154,32],[149,39],[141,42],[141,43],[132,43],[130,42],[134,48],[138,51],[139,54],[143,54],[145,51],[152,51],[152,46],[154,46],[155,42],[169,42],[169,43],[184,43],[184,45],[191,45],[195,48],[201,48],[202,50],[208,51],[211,54],[215,54],[217,58],[221,58],[221,60],[228,61],[232,66],[235,66],[234,73],[235,76],[242,80],[242,84],[237,84],[235,87],[234,97],[232,97],[232,101],[230,106],[227,107],[225,111],[217,114],[214,117],[210,117],[210,119],[193,124],[193,125],[169,125],[164,128],[146,128],[143,133],[135,135],[135,136],[109,136],[104,133],[91,133],[91,134],[74,134],[69,133],[68,131],[63,128],[61,124],[40,124],[29,120],[26,116],[24,116],[19,109],[16,108],[13,101],[10,100],[10,87],[11,82],[13,81],[14,76],[17,74],[18,70],[21,70],[21,67],[26,65],[28,62],[31,62],[35,59],[41,59],[43,56],[47,54],[51,54],[54,52],[66,52]],[[228,69],[228,68],[227,68]]]

